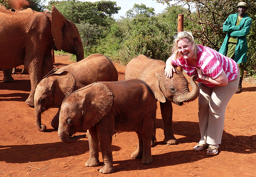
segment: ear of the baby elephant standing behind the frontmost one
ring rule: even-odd
[[[62,72],[55,72],[53,74],[50,74],[48,77],[56,76],[54,83],[58,84],[56,85],[56,89],[60,89],[58,91],[63,92],[66,96],[74,91],[75,85],[76,85],[76,79],[75,77],[70,74],[67,71]],[[57,90],[55,90],[56,93],[58,93]],[[58,96],[58,95],[56,95]]]

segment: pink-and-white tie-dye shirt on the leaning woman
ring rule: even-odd
[[[201,45],[197,45],[197,66],[190,66],[183,57],[176,60],[172,59],[172,61],[175,66],[182,66],[182,69],[188,76],[193,76],[195,74],[198,76],[196,68],[200,68],[205,76],[210,76],[215,79],[224,70],[228,77],[228,81],[233,81],[236,79],[239,72],[237,63],[233,59],[230,59],[209,47]],[[201,79],[197,79],[197,81],[208,87],[215,86],[214,84],[202,81]]]

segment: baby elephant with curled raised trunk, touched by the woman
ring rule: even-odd
[[[198,97],[199,88],[193,76],[190,79],[191,92],[185,76],[176,69],[172,78],[165,76],[165,63],[161,60],[150,59],[139,55],[132,59],[126,66],[125,79],[137,78],[145,81],[152,89],[156,100],[160,101],[161,116],[166,144],[176,144],[173,135],[173,107],[172,103],[182,105],[183,102],[193,101]]]

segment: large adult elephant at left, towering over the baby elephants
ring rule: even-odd
[[[0,68],[19,65],[30,75],[31,92],[26,103],[34,106],[35,87],[53,69],[52,48],[83,59],[83,46],[76,25],[56,7],[52,16],[40,12],[11,12],[0,8]]]

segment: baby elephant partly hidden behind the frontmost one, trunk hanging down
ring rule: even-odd
[[[113,63],[104,55],[93,54],[53,73],[50,72],[35,89],[35,120],[39,131],[46,131],[41,124],[41,113],[54,104],[60,106],[67,94],[96,81],[117,81],[118,73]],[[54,129],[59,126],[59,111],[51,122]]]

